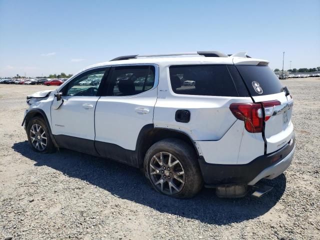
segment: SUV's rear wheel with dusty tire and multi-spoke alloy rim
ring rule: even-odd
[[[155,190],[176,198],[192,197],[203,185],[194,149],[179,139],[154,143],[145,154],[144,172]]]

